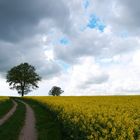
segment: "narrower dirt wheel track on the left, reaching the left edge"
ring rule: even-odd
[[[10,111],[6,115],[3,116],[3,118],[0,119],[0,125],[5,123],[6,120],[8,120],[13,115],[13,113],[16,111],[17,103],[14,100],[12,100],[12,101],[14,103],[14,106],[12,107],[12,109],[10,109]]]

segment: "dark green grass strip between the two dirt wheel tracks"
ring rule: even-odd
[[[24,125],[25,111],[25,105],[18,102],[15,113],[0,126],[0,140],[18,140]]]

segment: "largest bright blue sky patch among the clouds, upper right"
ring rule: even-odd
[[[106,25],[100,20],[99,17],[97,17],[95,14],[90,16],[89,22],[87,24],[87,27],[91,29],[98,29],[99,31],[103,32]]]

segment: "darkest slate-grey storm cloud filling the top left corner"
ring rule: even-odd
[[[68,18],[69,10],[62,0],[0,0],[0,39],[17,41],[33,35],[44,19],[65,30]]]

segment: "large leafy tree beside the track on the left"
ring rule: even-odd
[[[35,68],[28,63],[21,63],[7,72],[7,82],[10,89],[16,89],[21,96],[38,88],[41,77],[35,72]]]

